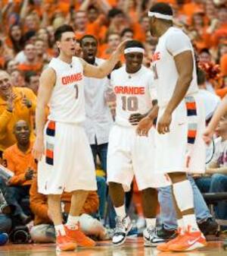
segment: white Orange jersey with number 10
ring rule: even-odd
[[[145,114],[156,100],[154,76],[151,70],[141,66],[134,74],[126,72],[126,66],[111,73],[111,86],[117,96],[116,123],[131,126],[129,116],[133,113]]]

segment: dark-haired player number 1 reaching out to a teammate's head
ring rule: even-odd
[[[88,191],[97,189],[92,152],[82,128],[85,121],[83,77],[101,78],[109,74],[120,58],[124,43],[106,62],[95,67],[74,57],[76,39],[72,27],[58,27],[54,36],[60,54],[52,58],[40,77],[33,155],[39,160],[39,192],[48,194],[48,212],[56,230],[57,250],[71,251],[76,245],[95,245],[78,225]],[[50,113],[45,124],[47,105]],[[73,192],[66,225],[61,216],[63,191]]]

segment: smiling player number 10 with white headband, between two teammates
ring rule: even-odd
[[[144,48],[138,41],[126,43],[124,50],[126,65],[110,74],[110,84],[117,96],[115,125],[110,130],[107,152],[107,183],[110,197],[117,213],[117,224],[113,245],[122,245],[132,227],[126,215],[125,191],[129,191],[135,175],[142,194],[143,210],[147,229],[144,232],[145,245],[152,246],[155,240],[157,212],[157,191],[155,188],[168,184],[164,175],[154,176],[154,128],[148,137],[135,133],[132,114],[144,115],[156,100],[153,73],[141,65]],[[132,122],[129,122],[130,121]],[[161,240],[163,242],[163,240]]]

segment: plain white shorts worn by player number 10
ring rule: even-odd
[[[135,175],[138,189],[170,185],[166,175],[154,174],[154,128],[148,137],[135,134],[135,128],[114,125],[107,152],[107,182],[117,182],[129,191]]]

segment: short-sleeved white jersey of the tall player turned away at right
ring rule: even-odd
[[[194,58],[194,49],[191,45],[191,41],[179,28],[170,27],[169,30],[160,37],[152,59],[154,82],[157,87],[159,106],[166,106],[176,87],[179,74],[176,70],[174,56],[187,50],[191,50]],[[182,63],[182,65],[184,65],[184,63]],[[193,77],[186,96],[197,93],[197,91],[197,74],[194,61]]]

